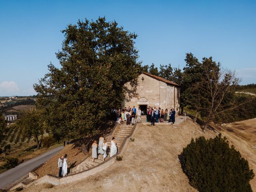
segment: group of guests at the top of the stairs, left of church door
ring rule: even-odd
[[[138,108],[138,112],[135,108],[135,106],[133,106],[133,108],[131,108],[130,106],[128,108],[120,108],[120,109],[116,109],[113,111],[114,114],[116,114],[116,122],[117,123],[122,123],[123,121],[126,121],[126,125],[130,125],[132,122],[132,125],[135,124],[135,118],[137,115],[138,118],[138,122],[141,121],[141,110],[140,107]]]

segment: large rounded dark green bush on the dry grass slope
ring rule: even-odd
[[[190,184],[200,192],[252,192],[254,177],[248,161],[221,134],[213,139],[191,140],[183,149],[181,164]]]

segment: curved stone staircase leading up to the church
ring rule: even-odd
[[[125,141],[125,138],[130,136],[130,134],[132,133],[132,130],[135,127],[135,126],[132,126],[132,125],[124,125],[124,123],[118,125],[116,127],[116,129],[114,130],[114,133],[112,134],[112,136],[116,140],[117,150],[118,150],[118,148],[121,148],[122,144]],[[105,161],[110,158],[110,146],[111,146],[112,137],[111,137],[111,139],[110,139],[110,137],[108,137],[108,138],[109,139],[106,139],[107,144],[108,144],[108,148],[107,148],[107,157],[105,158]],[[70,174],[76,174],[76,173],[79,173],[79,172],[82,172],[82,171],[86,171],[88,169],[91,169],[91,168],[99,165],[99,164],[102,164],[102,162],[103,162],[103,155],[102,154],[98,154],[98,158],[95,159],[94,162],[92,162],[92,156],[90,154],[90,156],[88,158],[86,158],[86,160],[84,160],[83,162],[78,164],[78,166],[72,168],[72,170],[70,171]]]

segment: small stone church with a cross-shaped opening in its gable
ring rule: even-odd
[[[131,88],[130,83],[125,86]],[[135,96],[129,98],[128,93],[124,101],[124,106],[135,106],[141,108],[145,113],[146,109],[151,107],[160,107],[162,109],[174,108],[179,112],[180,108],[180,86],[164,78],[142,72],[138,77],[138,85]]]

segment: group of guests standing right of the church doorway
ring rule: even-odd
[[[170,109],[168,112],[168,109],[165,111],[161,108],[156,108],[156,107],[148,107],[147,109],[147,122],[151,122],[151,125],[155,125],[155,122],[164,122],[167,121],[167,117],[169,116],[169,121],[174,124],[175,122],[175,110],[174,108]]]

